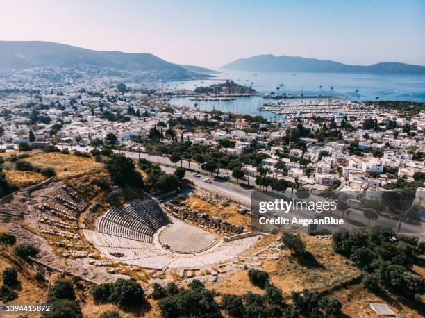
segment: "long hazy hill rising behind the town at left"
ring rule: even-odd
[[[199,75],[150,53],[94,51],[54,42],[0,41],[0,72],[76,65],[107,67],[130,72],[160,72],[168,76],[171,74],[176,78],[192,78]]]

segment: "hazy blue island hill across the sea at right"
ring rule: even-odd
[[[397,62],[374,65],[347,65],[332,60],[301,58],[297,56],[260,55],[240,58],[222,69],[249,72],[312,72],[312,73],[372,73],[372,74],[425,74],[425,66]]]

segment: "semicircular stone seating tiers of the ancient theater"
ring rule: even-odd
[[[154,242],[156,232],[169,223],[169,218],[156,201],[134,200],[123,208],[110,208],[99,217],[97,231],[83,232],[104,256],[151,269],[213,265],[236,258],[258,240],[258,236],[245,237],[232,242],[217,242],[199,253],[174,253]]]

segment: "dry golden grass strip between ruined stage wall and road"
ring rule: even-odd
[[[208,203],[202,199],[199,199],[192,194],[182,201],[182,203],[192,210],[197,210],[200,212],[206,212],[212,217],[219,217],[224,219],[231,224],[241,224],[244,228],[249,228],[251,221],[248,215],[240,215],[238,210],[238,205],[236,203],[229,203],[228,206],[214,206],[213,204]]]

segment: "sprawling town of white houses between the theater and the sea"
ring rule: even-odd
[[[174,106],[170,94],[194,92],[126,87],[113,85],[114,80],[108,78],[107,83],[102,75],[74,82],[65,76],[52,83],[35,76],[20,85],[19,79],[2,79],[1,148],[17,149],[22,143],[69,150],[108,145],[171,156],[160,150],[161,145],[177,149],[177,144],[190,142],[221,153],[217,168],[230,174],[240,169],[242,182],[253,178],[258,187],[272,185],[269,178],[275,178],[309,190],[385,190],[405,184],[422,189],[421,104],[390,107],[321,100],[320,109],[328,109],[330,116],[293,114],[267,121]],[[312,103],[317,101],[298,103],[297,112],[310,111]]]

